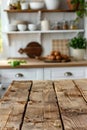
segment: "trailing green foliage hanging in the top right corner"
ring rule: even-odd
[[[72,5],[73,9],[76,10],[77,18],[82,18],[87,15],[87,1],[85,0],[67,0],[68,5]]]

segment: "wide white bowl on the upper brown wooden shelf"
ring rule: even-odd
[[[30,8],[31,9],[43,9],[44,8],[44,1],[31,1]]]

